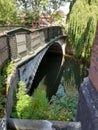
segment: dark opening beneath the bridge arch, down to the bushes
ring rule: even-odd
[[[32,95],[38,86],[46,89],[48,99],[57,91],[61,79],[61,68],[63,66],[63,51],[60,43],[53,43],[45,53],[37,69],[29,95]]]

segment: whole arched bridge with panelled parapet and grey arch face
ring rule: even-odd
[[[0,37],[1,66],[8,59],[14,61],[19,79],[29,90],[45,53],[65,53],[65,38],[63,28],[59,26],[34,31],[25,28],[10,30]]]

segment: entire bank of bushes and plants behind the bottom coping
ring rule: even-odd
[[[44,89],[38,87],[30,97],[26,94],[25,84],[20,81],[16,97],[11,117],[75,121],[77,96],[65,95],[60,99],[53,96],[49,102]]]

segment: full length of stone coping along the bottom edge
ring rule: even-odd
[[[8,118],[7,123],[10,130],[81,130],[80,122]]]

